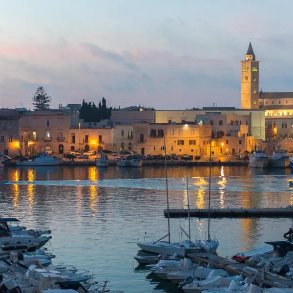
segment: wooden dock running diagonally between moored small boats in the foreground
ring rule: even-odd
[[[210,264],[214,268],[225,270],[230,275],[240,275],[245,267],[257,270],[258,272],[254,278],[253,283],[256,283],[259,286],[261,285],[262,287],[293,288],[293,280],[291,279],[274,274],[272,272],[265,272],[259,268],[253,268],[242,263],[234,262],[228,258],[215,256],[211,253],[188,253],[187,255],[192,258],[193,262],[200,262],[206,265]],[[254,277],[254,275],[251,275],[248,272],[243,272],[243,275],[245,277]]]

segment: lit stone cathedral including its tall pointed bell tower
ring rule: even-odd
[[[241,61],[241,108],[265,111],[266,138],[293,137],[293,92],[259,91],[259,63],[250,42]]]

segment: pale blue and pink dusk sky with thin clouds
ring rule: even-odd
[[[1,0],[0,107],[240,107],[251,40],[263,91],[293,91],[293,2]]]

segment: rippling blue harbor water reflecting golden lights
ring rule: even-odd
[[[138,239],[167,234],[164,167],[5,167],[0,185],[2,217],[17,217],[29,228],[52,230],[54,263],[75,265],[109,279],[109,289],[127,293],[178,292],[160,282],[133,256]],[[187,205],[186,168],[168,167],[170,208]],[[211,207],[286,207],[292,204],[290,169],[212,167]],[[209,167],[188,167],[190,208],[207,208]],[[186,239],[185,218],[170,219],[171,240]],[[281,240],[291,218],[211,219],[218,253],[231,256],[266,241]],[[205,238],[208,219],[191,218],[191,238]]]

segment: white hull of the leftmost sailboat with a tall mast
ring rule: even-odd
[[[179,247],[176,245],[171,246],[168,242],[160,242],[159,244],[155,244],[152,242],[137,242],[137,246],[143,251],[152,252],[156,254],[168,254],[174,255],[178,253],[179,255],[185,255],[186,249],[184,247]]]

